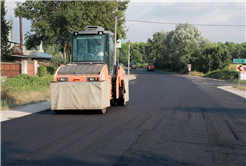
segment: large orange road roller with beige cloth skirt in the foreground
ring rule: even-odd
[[[128,80],[122,66],[113,65],[113,33],[89,26],[72,33],[72,61],[60,66],[50,84],[51,110],[101,110],[125,105]]]

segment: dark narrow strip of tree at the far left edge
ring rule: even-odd
[[[7,60],[9,58],[10,47],[8,35],[11,25],[4,18],[6,15],[4,3],[5,0],[0,1],[0,56],[2,60]]]

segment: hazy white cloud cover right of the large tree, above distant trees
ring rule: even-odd
[[[133,5],[132,5],[133,4]],[[136,5],[138,4],[138,6]],[[132,5],[132,6],[131,6]],[[144,10],[144,12],[142,12]],[[138,13],[138,14],[134,14]],[[191,24],[245,24],[244,2],[139,2],[130,3],[126,12],[127,20],[153,22],[191,23]],[[175,25],[127,22],[127,37],[133,41],[146,42],[153,33],[170,31]],[[214,42],[245,41],[245,27],[203,27],[197,26],[205,38]],[[234,33],[236,32],[236,33]]]

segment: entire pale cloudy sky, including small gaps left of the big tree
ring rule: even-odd
[[[19,1],[20,2],[20,1]],[[23,0],[22,0],[23,2]],[[14,20],[14,41],[20,41],[19,18],[14,17],[16,3],[6,0],[6,19]],[[131,42],[147,42],[155,32],[171,31],[175,24],[155,24],[131,22],[129,20],[189,23],[210,25],[245,25],[245,0],[131,0],[125,12],[127,39]],[[23,34],[30,32],[31,22],[23,19]],[[226,41],[243,43],[246,39],[246,26],[197,26],[201,35],[212,42]]]

